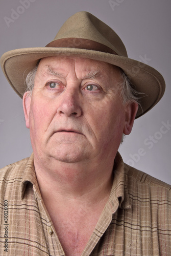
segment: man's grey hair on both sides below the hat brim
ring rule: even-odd
[[[36,76],[38,65],[34,67],[29,74],[26,77],[26,86],[27,90],[30,92],[30,95],[32,94],[33,87],[34,87],[34,80]],[[118,83],[118,88],[120,89],[120,96],[123,99],[123,104],[129,103],[129,102],[137,102],[138,103],[138,93],[135,89],[133,89],[133,84],[129,80],[128,76],[125,74],[125,72],[120,69],[120,75],[123,79],[123,82]],[[138,103],[139,104],[139,103]]]

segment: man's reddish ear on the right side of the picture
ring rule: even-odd
[[[132,126],[134,124],[135,116],[138,111],[138,103],[137,102],[128,103],[125,111],[126,111],[126,116],[125,116],[124,134],[129,135],[132,131]]]

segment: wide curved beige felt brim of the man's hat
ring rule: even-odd
[[[26,76],[39,59],[70,55],[104,61],[123,69],[135,90],[142,93],[139,100],[141,108],[138,109],[136,118],[151,110],[164,94],[165,82],[157,70],[137,60],[100,51],[62,47],[16,49],[3,54],[1,66],[12,88],[22,98],[26,91]]]

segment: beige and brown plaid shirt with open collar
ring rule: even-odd
[[[33,154],[1,169],[0,176],[0,255],[65,255],[40,195]],[[83,255],[170,256],[171,186],[117,154],[109,200]]]

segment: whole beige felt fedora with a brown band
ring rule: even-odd
[[[142,62],[128,58],[119,36],[100,19],[88,12],[78,12],[66,20],[55,39],[46,47],[16,49],[1,57],[2,70],[15,92],[22,98],[27,74],[39,59],[47,56],[76,55],[104,61],[124,70],[140,98],[136,118],[148,112],[165,90],[162,75]]]

